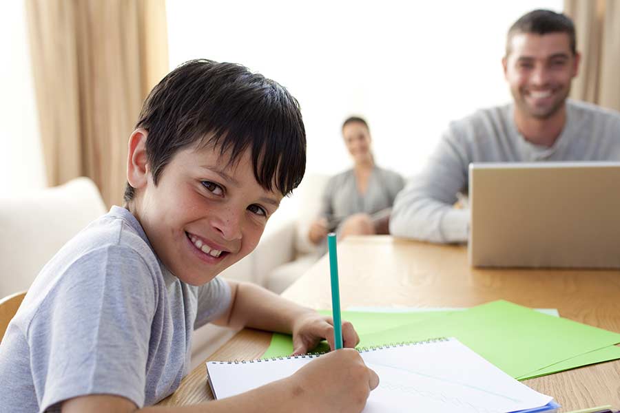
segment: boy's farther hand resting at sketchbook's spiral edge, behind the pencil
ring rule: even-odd
[[[293,355],[305,354],[322,340],[326,339],[329,348],[334,350],[333,319],[315,312],[310,312],[296,319],[293,324]],[[354,348],[360,342],[353,324],[342,321],[342,344]]]

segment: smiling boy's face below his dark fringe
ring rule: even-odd
[[[131,149],[131,147],[130,147]],[[159,259],[187,284],[205,284],[249,254],[282,194],[260,187],[250,151],[227,167],[219,148],[182,149],[153,182],[136,188],[132,213]]]

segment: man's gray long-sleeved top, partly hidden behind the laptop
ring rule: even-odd
[[[552,147],[517,130],[513,104],[482,109],[452,122],[420,175],[401,191],[390,233],[431,242],[466,242],[469,211],[455,209],[466,191],[470,162],[620,160],[620,114],[567,100],[566,125]]]

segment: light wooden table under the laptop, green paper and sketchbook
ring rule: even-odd
[[[471,307],[507,299],[532,308],[557,308],[566,317],[620,332],[620,271],[471,268],[465,246],[349,237],[338,244],[340,300],[349,306]],[[311,308],[331,308],[329,262],[323,257],[282,296]],[[271,334],[242,330],[209,360],[256,359]],[[561,412],[611,404],[620,408],[620,361],[526,380],[549,394]],[[162,405],[211,400],[204,364]]]

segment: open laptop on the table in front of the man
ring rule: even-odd
[[[620,268],[620,162],[469,165],[469,262]]]

